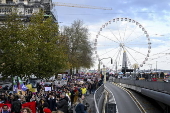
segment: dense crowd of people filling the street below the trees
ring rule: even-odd
[[[79,78],[83,82],[79,81]],[[86,96],[94,94],[95,90],[102,84],[96,75],[76,75],[67,78],[66,84],[56,85],[55,80],[51,82],[51,90],[45,91],[44,84],[37,84],[37,92],[28,90],[19,93],[3,92],[0,95],[0,103],[11,104],[9,110],[7,105],[2,106],[1,113],[33,113],[29,107],[22,108],[22,104],[35,102],[36,113],[88,113],[89,103]]]

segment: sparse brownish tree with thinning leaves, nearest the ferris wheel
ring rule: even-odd
[[[90,68],[93,65],[93,49],[88,40],[88,29],[83,26],[83,21],[74,21],[71,27],[64,26],[62,35],[67,37],[66,47],[71,69]]]

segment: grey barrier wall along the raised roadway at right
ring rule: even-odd
[[[170,94],[170,83],[166,82],[155,82],[155,81],[145,81],[145,80],[129,80],[129,79],[115,79],[116,83],[129,84],[133,86],[138,86],[141,88],[147,88],[159,92],[164,92]]]

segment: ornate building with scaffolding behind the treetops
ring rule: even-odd
[[[5,19],[7,14],[17,10],[18,14],[26,21],[32,14],[44,10],[45,17],[52,16],[56,21],[51,10],[53,8],[52,0],[0,0],[0,21]]]

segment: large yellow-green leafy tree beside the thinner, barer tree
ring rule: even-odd
[[[58,35],[58,25],[52,18],[44,20],[42,14],[33,16],[28,31],[35,44],[36,76],[49,77],[68,67],[63,37]]]

